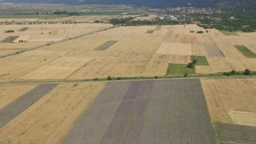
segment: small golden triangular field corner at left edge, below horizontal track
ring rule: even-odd
[[[20,96],[29,92],[37,85],[3,85],[0,86],[0,109],[15,101]]]

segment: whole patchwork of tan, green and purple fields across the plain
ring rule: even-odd
[[[256,32],[113,17],[0,27],[0,144],[256,144]]]

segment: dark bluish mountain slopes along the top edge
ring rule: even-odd
[[[256,0],[5,0],[13,3],[127,4],[148,7],[255,8]]]

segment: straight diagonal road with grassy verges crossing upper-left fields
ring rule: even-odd
[[[113,26],[113,27],[109,27],[109,28],[105,28],[105,29],[100,29],[100,30],[96,30],[96,31],[93,31],[93,32],[88,32],[88,33],[85,33],[85,34],[82,34],[82,35],[77,35],[77,36],[74,36],[74,37],[68,37],[68,38],[65,38],[63,40],[52,41],[50,43],[46,43],[46,44],[43,44],[43,45],[34,46],[34,47],[31,47],[31,48],[27,48],[27,49],[21,49],[21,50],[15,51],[15,52],[0,55],[0,58],[8,57],[10,55],[19,54],[21,52],[27,52],[27,51],[30,51],[30,50],[38,49],[38,48],[41,48],[41,47],[44,47],[44,46],[49,46],[49,45],[56,44],[56,43],[61,43],[61,42],[67,41],[67,40],[73,40],[73,39],[83,37],[83,36],[86,36],[86,35],[92,35],[92,34],[95,34],[95,33],[98,33],[98,32],[102,32],[102,31],[105,31],[105,30],[108,30],[108,29],[111,29],[111,28],[112,29],[117,28],[117,27],[119,27],[119,26]]]

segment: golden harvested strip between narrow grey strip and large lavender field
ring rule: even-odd
[[[0,128],[0,141],[11,144],[57,144],[105,83],[59,84]]]

